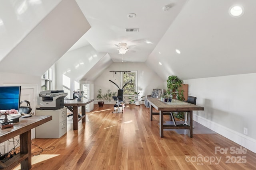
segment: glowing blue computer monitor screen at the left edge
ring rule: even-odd
[[[0,86],[0,110],[19,110],[20,86]]]

